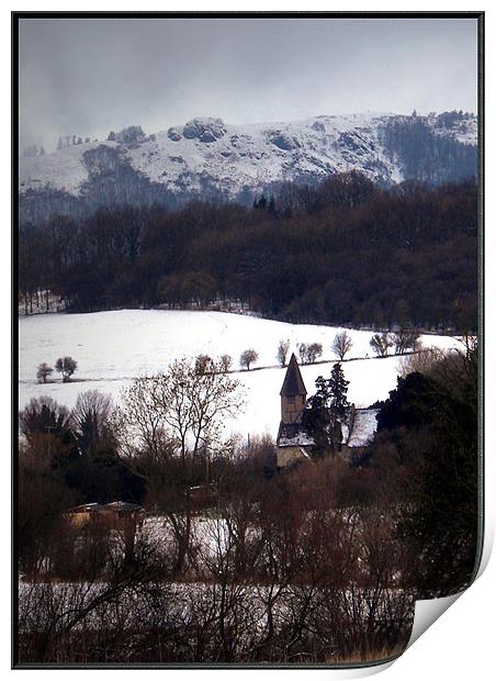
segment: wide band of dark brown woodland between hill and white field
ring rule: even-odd
[[[213,305],[342,326],[475,328],[477,191],[374,187],[358,174],[285,187],[275,211],[114,206],[20,231],[20,291],[68,310]]]

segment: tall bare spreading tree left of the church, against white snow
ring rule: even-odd
[[[208,462],[212,453],[227,446],[223,439],[224,420],[241,408],[238,388],[239,381],[224,373],[221,362],[208,358],[199,366],[195,360],[182,358],[164,373],[135,379],[123,393],[120,413],[129,426],[127,442],[137,433],[150,447],[149,453],[135,449],[133,454],[128,446],[127,464],[140,471],[150,499],[166,511],[178,573],[183,571],[191,550],[188,481],[194,478],[200,455]],[[180,470],[174,455],[180,457]]]

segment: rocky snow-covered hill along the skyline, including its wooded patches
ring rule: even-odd
[[[409,178],[444,181],[474,175],[476,131],[475,116],[455,112],[319,115],[249,125],[196,118],[133,141],[90,142],[22,157],[19,191],[21,205],[50,191],[90,203],[139,203],[140,197],[144,203],[184,202],[205,196],[249,201],[283,181],[314,182],[349,170],[386,185]],[[420,166],[412,158],[416,154]]]

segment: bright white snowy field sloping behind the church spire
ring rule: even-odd
[[[183,356],[228,354],[233,357],[233,369],[239,369],[241,351],[253,348],[259,353],[253,369],[274,367],[282,339],[289,339],[290,351],[295,353],[298,343],[322,343],[320,359],[335,360],[330,345],[338,331],[331,326],[285,324],[223,312],[120,310],[21,317],[19,406],[22,409],[31,398],[47,394],[71,408],[80,392],[95,389],[111,393],[119,402],[120,391],[134,377],[165,370],[170,361]],[[396,387],[398,358],[372,358],[371,332],[348,330],[348,333],[353,340],[349,358],[362,358],[342,364],[350,381],[348,397],[357,406],[368,406],[387,398],[388,391]],[[424,347],[460,347],[450,336],[426,335],[421,340]],[[42,361],[54,366],[58,357],[66,355],[78,362],[75,380],[63,383],[54,375],[54,382],[37,383],[37,366]],[[330,368],[330,364],[301,368],[308,394],[314,392],[315,379],[327,377]],[[244,437],[266,432],[277,435],[284,371],[274,367],[233,375],[244,386],[246,408],[227,424],[229,432]]]

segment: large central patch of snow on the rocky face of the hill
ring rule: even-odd
[[[178,181],[187,181],[190,188],[200,189],[202,174],[207,172],[221,189],[236,194],[245,185],[261,187],[284,178],[289,159],[300,174],[319,172],[322,177],[329,170],[345,172],[357,167],[375,177],[379,174],[374,174],[372,166],[377,164],[394,181],[398,181],[402,179],[398,168],[381,146],[377,132],[388,115],[392,114],[369,112],[247,125],[226,125],[218,120],[219,137],[207,144],[185,137],[183,126],[178,125],[171,129],[176,133],[173,139],[168,133],[160,132],[154,139],[134,145],[129,158],[135,169],[154,182],[166,183],[171,191]],[[201,129],[208,129],[212,119],[194,121]],[[359,133],[368,139],[359,154],[353,147],[342,153],[340,135],[349,133]],[[279,146],[274,139],[279,139]],[[364,153],[369,155],[369,164],[362,163]]]

